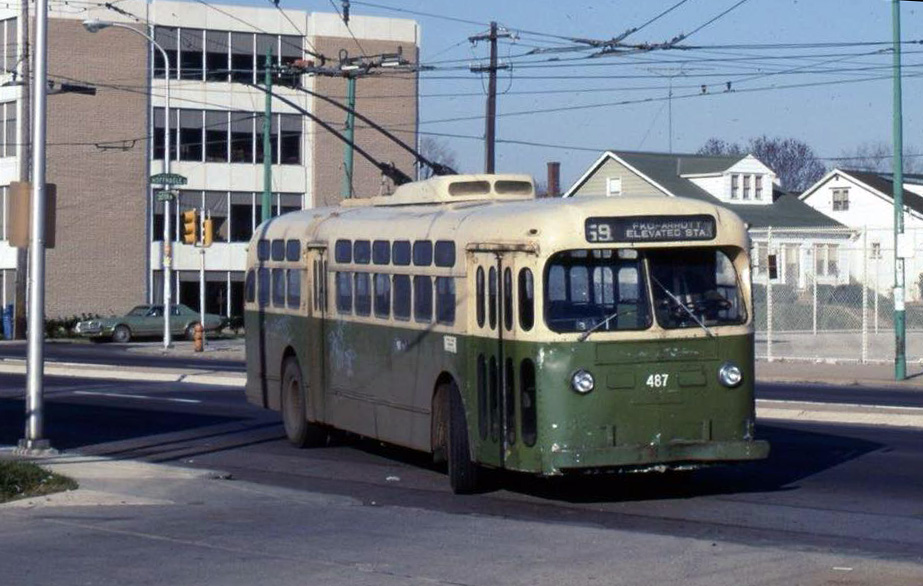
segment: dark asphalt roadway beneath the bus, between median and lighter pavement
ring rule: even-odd
[[[21,375],[0,375],[0,444],[22,434],[23,386]],[[278,416],[246,404],[240,389],[72,378],[49,378],[45,389],[46,436],[67,451],[219,470],[407,512],[923,562],[923,445],[914,430],[773,422],[757,429],[772,443],[765,462],[691,475],[503,474],[494,490],[460,498],[415,452],[349,437],[296,450]]]

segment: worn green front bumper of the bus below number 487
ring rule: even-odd
[[[769,442],[675,441],[663,444],[614,446],[610,448],[565,448],[552,446],[546,460],[546,474],[584,469],[659,467],[762,460],[769,456]],[[550,469],[548,469],[550,465]]]

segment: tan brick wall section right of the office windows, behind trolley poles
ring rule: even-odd
[[[338,55],[341,48],[350,57],[394,53],[400,43],[362,39],[361,49],[353,39],[336,37],[315,37],[312,39],[317,52],[324,55]],[[403,46],[404,58],[417,61],[416,48]],[[396,74],[387,69],[376,69],[380,75],[367,75],[356,81],[356,111],[384,126],[402,141],[415,146],[417,119],[417,81],[415,73]],[[346,104],[346,79],[341,77],[319,77],[315,91],[326,96],[339,98]],[[346,113],[322,100],[315,100],[315,113],[334,128],[342,129]],[[402,125],[393,127],[393,125]],[[355,142],[373,157],[395,163],[411,178],[414,176],[413,157],[397,147],[381,133],[365,128],[366,124],[356,119]],[[309,126],[314,137],[312,193],[315,207],[335,205],[340,201],[343,182],[343,142],[316,124]],[[381,173],[359,153],[354,154],[353,166],[354,197],[370,197],[379,194]]]

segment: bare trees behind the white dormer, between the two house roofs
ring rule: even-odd
[[[827,169],[807,143],[794,138],[758,136],[744,147],[710,138],[699,149],[702,155],[743,155],[749,153],[772,169],[782,189],[804,191],[824,176]]]

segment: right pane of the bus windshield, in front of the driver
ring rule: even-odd
[[[651,250],[654,313],[667,329],[746,323],[737,271],[714,249]]]

